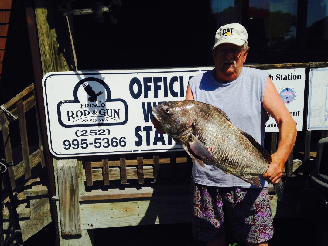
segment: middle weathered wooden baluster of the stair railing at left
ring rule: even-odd
[[[25,175],[25,179],[28,179],[29,177],[31,177],[31,161],[30,161],[29,143],[27,140],[27,128],[26,128],[23,100],[19,100],[16,103],[16,107],[18,113],[19,132],[20,132],[21,143],[22,143],[24,175]]]

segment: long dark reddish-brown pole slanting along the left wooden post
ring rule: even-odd
[[[34,2],[33,0],[26,0],[24,1],[25,5],[25,13],[26,13],[26,22],[27,22],[27,29],[29,33],[29,40],[30,40],[30,48],[31,48],[31,57],[32,57],[32,65],[33,65],[33,73],[34,73],[34,90],[35,90],[35,101],[38,106],[38,115],[40,120],[40,131],[41,131],[41,139],[43,144],[43,151],[45,155],[45,161],[47,165],[48,171],[48,181],[49,181],[49,201],[50,201],[50,211],[52,220],[55,222],[55,230],[56,230],[56,240],[55,245],[60,246],[59,243],[59,231],[58,231],[58,215],[57,215],[57,206],[55,202],[52,202],[52,196],[56,196],[56,189],[55,189],[55,178],[54,178],[54,170],[53,170],[53,162],[52,157],[49,152],[49,145],[47,139],[47,125],[45,121],[44,115],[45,108],[43,103],[43,91],[42,91],[42,62],[41,62],[41,53],[40,53],[40,45],[37,33],[37,25],[36,25],[36,17],[35,17],[35,10],[34,10]]]

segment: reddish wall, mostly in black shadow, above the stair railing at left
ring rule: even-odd
[[[23,0],[0,0],[0,105],[33,82]]]

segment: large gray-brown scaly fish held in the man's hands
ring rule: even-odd
[[[164,102],[153,107],[163,130],[181,145],[199,165],[214,165],[248,183],[262,187],[271,155],[254,138],[233,125],[219,108],[186,100]],[[274,185],[278,200],[283,183]]]

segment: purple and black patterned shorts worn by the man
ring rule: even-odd
[[[272,238],[268,189],[211,187],[192,183],[193,236],[218,239],[229,226],[236,240],[261,243]]]

